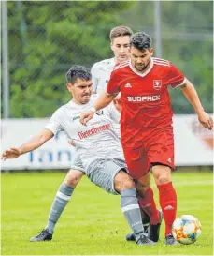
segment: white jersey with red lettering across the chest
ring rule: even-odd
[[[95,159],[124,158],[121,141],[113,127],[113,122],[119,123],[121,114],[113,104],[96,112],[86,127],[79,122],[81,113],[89,111],[96,98],[92,96],[89,103],[84,105],[69,101],[53,113],[46,126],[53,134],[64,130],[67,136],[76,143],[84,168],[87,168]]]

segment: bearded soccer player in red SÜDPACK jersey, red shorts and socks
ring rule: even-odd
[[[213,120],[204,111],[193,84],[182,72],[167,60],[152,57],[149,35],[134,34],[130,52],[130,61],[114,69],[107,92],[96,100],[89,113],[82,114],[80,122],[86,125],[96,111],[106,107],[121,92],[121,143],[126,163],[137,184],[145,189],[145,200],[141,204],[145,205],[151,219],[157,218],[150,190],[149,170],[152,168],[164,214],[165,243],[173,245],[176,244],[172,223],[177,213],[177,194],[171,179],[174,134],[167,86],[181,88],[205,128],[212,129]]]

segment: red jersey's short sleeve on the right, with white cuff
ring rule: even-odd
[[[166,83],[170,84],[172,88],[176,88],[185,83],[185,76],[183,73],[174,65],[170,64],[170,68],[166,74]]]

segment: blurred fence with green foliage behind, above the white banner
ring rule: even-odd
[[[68,68],[112,57],[109,31],[121,24],[150,34],[155,56],[177,65],[213,113],[212,1],[8,1],[2,19],[4,117],[50,116],[70,98]],[[175,113],[193,113],[182,93],[170,93]]]

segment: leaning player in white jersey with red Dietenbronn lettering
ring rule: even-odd
[[[48,125],[28,143],[5,150],[2,159],[18,158],[49,141],[58,131],[64,130],[77,147],[76,169],[85,172],[98,187],[112,194],[120,194],[121,211],[136,235],[136,244],[153,245],[144,234],[135,182],[127,173],[121,142],[112,126],[112,120],[119,121],[120,113],[111,105],[96,113],[87,127],[78,121],[80,113],[89,111],[93,106],[95,98],[91,98],[92,84],[92,74],[88,68],[77,65],[70,68],[67,72],[67,89],[73,97],[72,100],[53,113]],[[54,222],[55,216],[58,218],[58,212],[62,211],[61,204],[69,201],[73,190],[66,183],[61,185],[56,194],[57,200],[51,207],[50,221]],[[48,226],[31,241],[51,238],[52,233]]]

